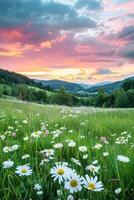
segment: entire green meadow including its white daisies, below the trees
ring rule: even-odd
[[[132,109],[1,99],[0,152],[1,200],[134,199]]]

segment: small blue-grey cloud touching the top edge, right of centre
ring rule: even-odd
[[[98,10],[102,8],[100,0],[78,0],[75,4],[76,8],[86,8],[89,10]]]

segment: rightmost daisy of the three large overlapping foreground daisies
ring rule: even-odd
[[[103,190],[103,184],[101,181],[98,181],[98,177],[95,176],[94,178],[93,177],[89,177],[88,175],[86,175],[86,178],[83,179],[84,181],[84,187],[87,188],[88,190],[92,190],[92,191],[95,191],[95,192],[99,192],[101,190]]]

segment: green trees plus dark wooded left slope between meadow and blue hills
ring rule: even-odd
[[[54,91],[26,76],[0,69],[0,96],[13,96],[21,100],[46,104],[95,107],[134,107],[134,80],[126,80],[120,89],[111,94],[99,89],[97,94],[78,97],[61,87]]]

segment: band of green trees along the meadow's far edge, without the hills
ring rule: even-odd
[[[58,91],[48,93],[46,90],[39,88],[29,88],[26,84],[12,84],[10,90],[5,85],[1,95],[45,104],[129,108],[134,107],[134,80],[125,81],[121,88],[113,91],[112,94],[106,93],[101,88],[96,95],[88,97],[78,97],[67,93],[64,87],[61,87]]]

